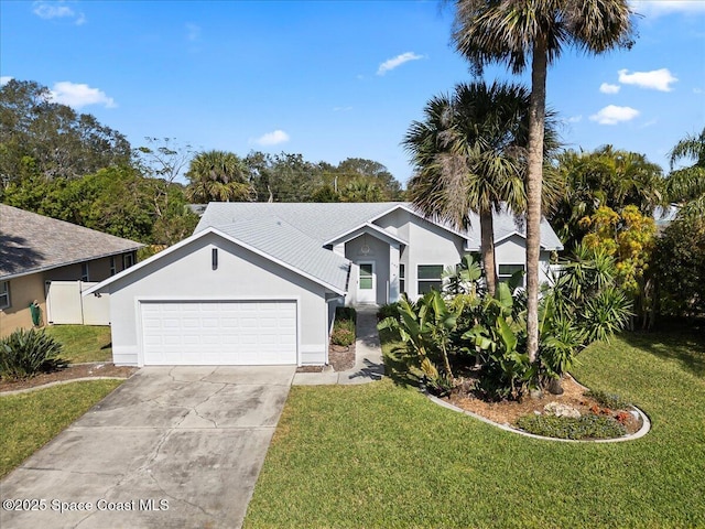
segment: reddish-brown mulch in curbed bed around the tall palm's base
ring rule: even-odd
[[[469,385],[473,380],[468,380]],[[477,413],[485,419],[489,419],[498,424],[514,427],[520,417],[532,415],[543,412],[543,408],[550,402],[557,402],[575,408],[581,414],[590,413],[590,408],[606,410],[595,399],[585,396],[587,389],[577,384],[572,377],[564,377],[561,381],[563,395],[552,395],[544,392],[540,398],[525,397],[521,401],[503,400],[499,402],[488,402],[479,399],[473,392],[455,391],[445,400],[466,411]],[[629,434],[636,433],[641,428],[641,422],[633,417],[626,420],[625,427]]]

